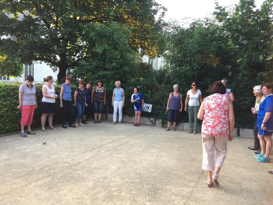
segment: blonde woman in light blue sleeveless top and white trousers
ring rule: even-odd
[[[116,124],[117,109],[118,109],[118,123],[121,124],[122,108],[124,107],[124,100],[125,100],[124,90],[120,87],[121,82],[116,81],[115,85],[117,88],[113,90],[113,96],[112,96],[112,106],[114,107],[112,125]]]

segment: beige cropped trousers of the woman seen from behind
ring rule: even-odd
[[[226,158],[226,146],[228,137],[216,137],[202,134],[203,163],[202,169],[214,170],[214,149],[216,150],[215,166],[222,167]]]

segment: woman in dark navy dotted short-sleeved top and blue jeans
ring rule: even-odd
[[[83,117],[85,106],[87,106],[86,90],[83,89],[84,84],[85,82],[81,80],[79,82],[79,88],[76,89],[74,94],[74,102],[75,102],[74,107],[77,108],[77,116],[76,116],[76,123],[75,123],[76,127],[84,126],[84,124],[82,124],[82,117]]]

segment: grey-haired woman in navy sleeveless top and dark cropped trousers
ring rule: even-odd
[[[168,111],[168,127],[165,129],[166,131],[170,130],[171,122],[172,123],[172,131],[175,131],[176,121],[179,112],[182,112],[183,101],[182,94],[178,92],[178,85],[175,84],[173,86],[174,92],[171,92],[169,95],[169,99],[167,102]]]

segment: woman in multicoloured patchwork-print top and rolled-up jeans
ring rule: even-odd
[[[97,85],[94,86],[91,96],[91,104],[94,102],[94,123],[101,123],[102,117],[102,105],[106,103],[106,88],[103,87],[102,79],[97,81]],[[98,117],[98,120],[97,120]]]

